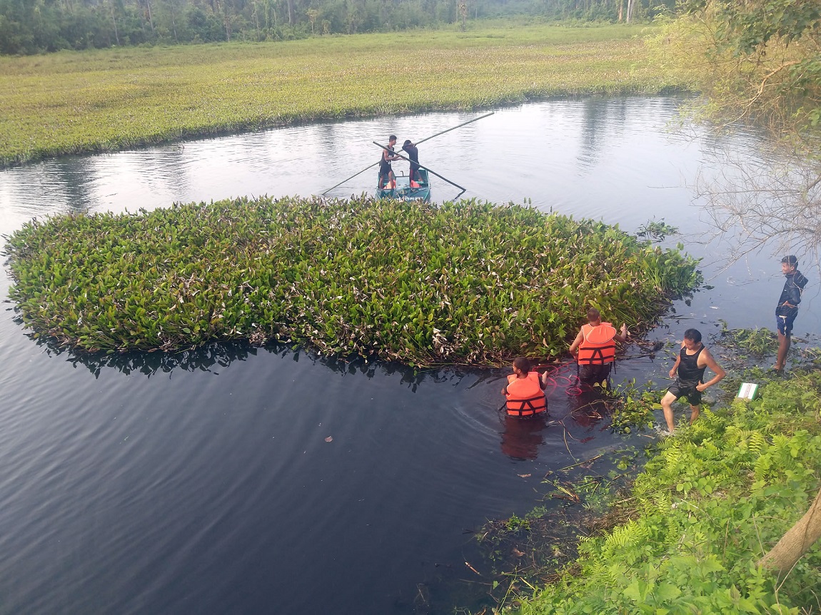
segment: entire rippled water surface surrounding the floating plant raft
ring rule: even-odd
[[[420,160],[465,197],[530,198],[626,230],[677,225],[715,288],[678,302],[659,339],[709,334],[719,319],[773,329],[778,259],[720,271],[722,245],[693,243],[705,225],[689,185],[722,171],[722,151],[754,155],[751,139],[669,134],[678,104],[502,109],[422,144]],[[0,234],[58,212],[319,194],[378,158],[371,141],[470,117],[300,126],[2,171]],[[330,194],[370,191],[375,174]],[[457,193],[433,184],[436,200]],[[4,270],[3,297],[8,286]],[[818,288],[797,334],[821,331]],[[647,441],[573,412],[562,385],[550,410],[566,430],[522,430],[497,412],[506,371],[415,373],[239,345],[80,359],[35,344],[2,305],[0,613],[451,613],[420,595],[473,575],[464,530],[532,508],[548,471]],[[663,380],[667,358],[640,354],[628,350],[617,381]]]

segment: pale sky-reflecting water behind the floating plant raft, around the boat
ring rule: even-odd
[[[722,271],[718,263],[726,245],[693,243],[709,228],[699,207],[693,207],[696,178],[731,171],[718,162],[727,152],[753,157],[752,139],[716,139],[691,128],[689,134],[673,133],[667,124],[675,119],[677,105],[675,98],[590,98],[500,109],[424,142],[420,161],[465,186],[464,198],[529,199],[544,211],[602,219],[625,230],[663,218],[684,234],[676,240],[704,256],[705,273],[717,286],[696,297],[699,318],[733,321],[727,313],[732,307],[737,326],[772,326],[771,295],[780,284],[777,259],[752,255]],[[135,212],[175,201],[321,194],[369,165],[328,195],[372,192],[379,157],[374,140],[385,142],[394,133],[399,144],[418,142],[479,115],[431,113],[300,125],[14,168],[0,173],[0,232],[51,212]],[[407,163],[394,162],[394,168],[406,173]],[[434,178],[434,200],[458,192]],[[808,295],[811,301],[811,288]],[[715,303],[722,304],[720,310]],[[819,318],[806,312],[798,324],[821,330]]]

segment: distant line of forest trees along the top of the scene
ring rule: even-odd
[[[0,53],[298,39],[514,15],[636,21],[676,0],[0,0]]]

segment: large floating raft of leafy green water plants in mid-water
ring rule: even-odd
[[[247,339],[498,364],[562,353],[591,303],[649,326],[701,280],[617,226],[476,201],[238,198],[56,216],[7,241],[25,325],[87,351]]]

